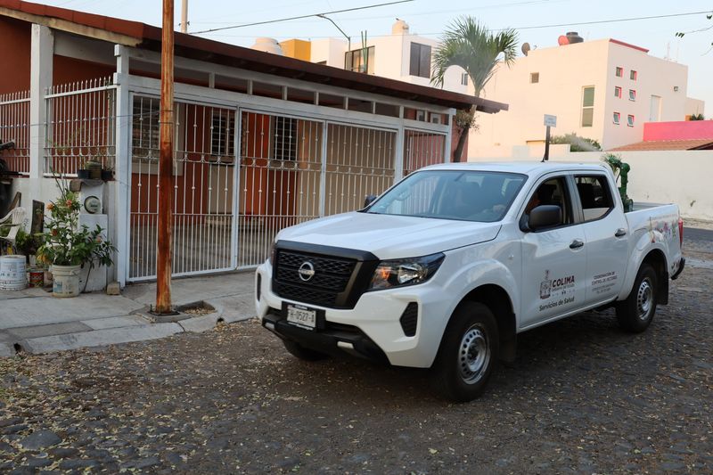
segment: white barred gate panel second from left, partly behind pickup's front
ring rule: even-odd
[[[242,112],[238,267],[267,258],[275,234],[320,216],[324,125]]]

